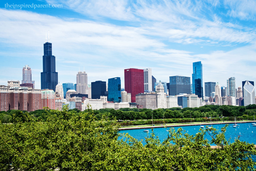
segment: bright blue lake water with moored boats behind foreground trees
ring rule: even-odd
[[[239,123],[236,128],[232,127],[233,124],[229,124],[226,132],[225,137],[226,139],[230,138],[230,142],[233,143],[235,139],[240,135],[240,141],[245,141],[248,143],[254,143],[256,144],[256,126],[252,126],[251,123]],[[213,125],[214,128],[217,130],[221,130],[222,127],[224,127],[225,124],[216,124]],[[206,127],[206,125],[204,125]],[[176,131],[178,128],[182,128],[186,133],[190,135],[195,135],[199,129],[200,125],[198,126],[182,126],[182,127],[173,127]],[[166,130],[169,130],[170,128],[154,128],[153,131],[156,136],[159,137],[160,141],[163,142],[164,139],[168,137],[169,132]],[[123,130],[120,131],[120,133],[128,133],[133,138],[136,138],[138,140],[142,140],[142,143],[145,144],[145,137],[148,135],[150,136],[150,133],[152,133],[151,129],[148,129],[149,132],[143,132],[144,129],[134,129],[134,130]],[[210,135],[206,133],[205,136],[206,139],[211,140]],[[119,137],[121,139],[121,137]],[[214,144],[211,144],[214,145]]]

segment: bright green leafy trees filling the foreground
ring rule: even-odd
[[[153,133],[143,145],[128,134],[118,140],[119,124],[97,126],[92,110],[44,112],[44,122],[21,112],[12,124],[0,123],[0,170],[255,170],[254,145],[239,138],[230,144],[226,127],[195,136],[170,129],[164,142]]]

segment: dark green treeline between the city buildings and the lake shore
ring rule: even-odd
[[[89,109],[91,110],[91,109]],[[70,109],[69,111],[79,113],[78,109]],[[14,117],[23,119],[23,114],[27,111],[8,110],[7,112],[0,112],[0,120],[2,123],[12,123]],[[183,119],[192,118],[194,121],[205,121],[203,118],[220,118],[230,117],[232,119],[237,117],[237,120],[249,119],[253,120],[253,115],[256,113],[256,105],[248,106],[217,106],[205,105],[199,108],[169,108],[169,109],[137,109],[137,108],[121,108],[114,109],[100,109],[93,110],[96,120],[117,120],[117,121],[134,121],[134,120],[149,120],[149,119]],[[29,112],[29,114],[36,120],[45,121],[48,117],[47,110],[36,110]],[[239,117],[239,118],[238,118]],[[198,119],[200,118],[200,119]],[[225,118],[226,119],[226,118]],[[233,119],[232,119],[233,120]],[[178,121],[175,120],[174,123]],[[178,121],[179,123],[182,120]]]

